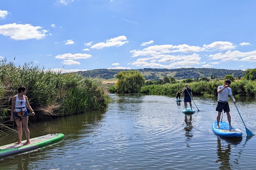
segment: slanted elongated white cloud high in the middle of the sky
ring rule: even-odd
[[[122,45],[124,45],[125,43],[128,43],[129,41],[125,41],[127,38],[124,35],[121,35],[119,37],[115,37],[115,38],[110,38],[109,40],[106,40],[106,42],[100,42],[100,43],[96,43],[94,45],[91,46],[91,48],[96,48],[96,49],[102,49],[104,47],[120,47]]]

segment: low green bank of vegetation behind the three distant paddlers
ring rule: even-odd
[[[217,88],[223,85],[221,81],[199,81],[188,83],[194,95],[217,96]],[[150,95],[176,95],[178,90],[182,90],[185,83],[166,83],[164,85],[147,85],[141,87],[140,93]],[[256,81],[241,79],[237,82],[232,82],[230,85],[234,96],[256,96]]]

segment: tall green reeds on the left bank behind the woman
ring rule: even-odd
[[[27,88],[27,96],[37,119],[44,115],[71,115],[99,110],[109,103],[107,87],[98,78],[45,71],[32,63],[16,66],[0,61],[0,117],[10,119],[11,98],[19,86]],[[38,116],[40,115],[40,116]]]

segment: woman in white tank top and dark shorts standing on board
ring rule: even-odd
[[[18,141],[14,144],[21,143],[22,138],[22,125],[27,138],[27,141],[23,145],[30,144],[29,141],[29,129],[28,129],[28,110],[32,112],[32,115],[35,115],[35,112],[31,108],[28,102],[28,97],[25,96],[27,92],[26,87],[21,86],[18,88],[18,95],[13,96],[11,100],[11,121],[15,119],[17,129],[18,129]],[[14,119],[13,119],[14,115]],[[20,118],[20,119],[18,119]]]

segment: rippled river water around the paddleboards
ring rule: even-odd
[[[216,98],[195,96],[199,109],[185,115],[173,96],[110,95],[104,111],[34,123],[49,133],[64,133],[58,143],[0,159],[1,170],[251,170],[255,168],[256,136],[245,126],[232,102],[232,125],[242,138],[220,138],[212,132]],[[196,109],[194,103],[193,107]],[[256,133],[256,99],[238,98],[246,127]],[[196,109],[196,110],[198,110]],[[227,121],[224,114],[223,121]],[[45,135],[29,125],[31,138]],[[23,136],[24,137],[24,136]],[[10,133],[0,145],[15,142]]]

